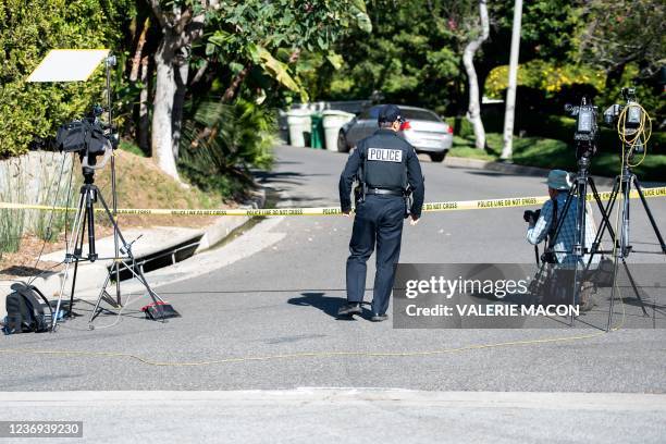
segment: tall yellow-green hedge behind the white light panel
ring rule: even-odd
[[[25,81],[50,49],[114,47],[132,8],[130,0],[0,0],[0,159],[102,101],[101,69],[87,83]]]

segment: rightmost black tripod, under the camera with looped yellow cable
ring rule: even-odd
[[[620,175],[615,177],[615,184],[613,185],[613,190],[610,192],[610,197],[606,206],[606,214],[610,214],[613,212],[613,208],[615,207],[618,196],[621,194],[622,208],[619,210],[621,212],[621,223],[619,226],[619,230],[620,230],[619,240],[616,239],[615,233],[613,232],[613,227],[610,226],[609,219],[605,218],[602,225],[600,226],[600,230],[596,234],[592,248],[594,249],[595,247],[599,246],[599,244],[601,243],[601,238],[607,229],[610,235],[610,238],[613,239],[613,245],[616,246],[614,275],[617,275],[617,267],[618,267],[617,259],[619,258],[625,266],[625,270],[627,271],[629,282],[631,283],[631,286],[639,301],[641,303],[643,314],[648,316],[648,311],[645,310],[643,300],[641,299],[641,296],[636,286],[633,278],[631,276],[631,273],[629,273],[627,262],[625,261],[625,259],[629,256],[629,254],[632,250],[631,245],[629,245],[629,227],[630,227],[630,203],[629,202],[630,202],[632,186],[636,187],[636,190],[641,199],[641,203],[643,205],[643,209],[645,210],[645,213],[648,214],[650,224],[652,225],[652,229],[654,230],[654,234],[656,235],[656,238],[659,242],[659,245],[662,247],[662,252],[664,255],[666,255],[666,244],[664,243],[664,237],[662,237],[659,227],[657,226],[656,221],[654,220],[654,217],[652,215],[652,211],[650,210],[650,206],[648,205],[648,200],[645,199],[645,195],[643,194],[643,188],[641,187],[641,183],[639,182],[637,175],[633,174],[633,172],[631,171],[630,161],[631,161],[631,158],[633,157],[632,148],[629,147],[629,149],[625,151],[622,157],[624,157],[622,172]],[[590,262],[588,262],[588,267],[590,267]],[[613,289],[610,291],[610,306],[608,308],[608,324],[606,325],[606,331],[610,330],[610,324],[613,322],[613,308],[615,304],[615,287],[616,285],[613,285]]]

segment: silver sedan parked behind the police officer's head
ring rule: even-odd
[[[337,150],[347,152],[362,138],[372,135],[378,126],[381,104],[361,112],[340,130]],[[423,108],[400,107],[405,123],[398,135],[411,144],[417,152],[425,152],[433,162],[441,162],[453,144],[453,128],[437,114]]]

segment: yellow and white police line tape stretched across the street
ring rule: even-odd
[[[643,195],[649,197],[666,196],[666,186],[655,188],[643,188]],[[601,200],[608,200],[612,192],[599,194]],[[632,190],[630,198],[639,197],[637,190]],[[423,203],[424,212],[436,211],[464,211],[464,210],[490,210],[498,208],[532,207],[548,200],[548,196],[535,197],[510,197],[503,199],[483,200],[460,200],[447,202]],[[588,200],[594,200],[592,194],[588,194]],[[0,202],[0,209],[23,209],[23,210],[52,210],[52,211],[76,211],[76,208],[51,207],[45,205],[12,203]],[[104,211],[103,208],[96,208],[96,211]],[[338,215],[342,214],[340,207],[316,207],[316,208],[260,208],[260,209],[165,209],[165,208],[119,208],[118,214],[131,215],[242,215],[242,217],[270,217],[270,215]]]

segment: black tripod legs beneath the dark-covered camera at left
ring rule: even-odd
[[[70,306],[69,306],[69,317],[72,316],[72,309],[74,306],[74,292],[76,289],[76,276],[78,273],[78,263],[82,261],[90,261],[95,262],[98,259],[113,259],[113,264],[110,267],[107,278],[104,279],[104,283],[99,293],[99,297],[97,298],[97,303],[95,304],[95,308],[92,313],[90,314],[90,319],[88,320],[90,329],[92,329],[92,321],[99,314],[99,306],[102,300],[106,300],[112,307],[118,308],[121,306],[120,298],[113,299],[111,295],[107,292],[107,287],[111,282],[111,278],[115,275],[116,279],[116,289],[120,293],[120,266],[122,264],[125,269],[127,269],[134,278],[136,278],[145,287],[148,294],[150,295],[157,312],[161,316],[162,320],[164,320],[164,311],[162,304],[164,301],[160,298],[160,296],[152,291],[141,268],[136,267],[136,261],[134,259],[134,255],[132,252],[132,243],[127,243],[123,237],[118,222],[115,218],[111,213],[109,206],[104,201],[102,194],[99,192],[99,188],[95,185],[95,171],[90,168],[83,168],[84,175],[84,184],[81,187],[81,196],[78,199],[78,206],[76,209],[76,215],[74,218],[74,226],[72,237],[66,247],[65,252],[65,269],[63,273],[63,280],[60,287],[60,294],[58,296],[58,305],[55,308],[55,312],[60,312],[60,306],[62,304],[62,298],[64,295],[64,287],[67,282],[70,267],[74,263],[74,273],[72,279],[72,292],[70,294]],[[102,210],[107,215],[109,222],[113,225],[114,231],[114,246],[115,251],[119,251],[123,256],[116,254],[113,258],[100,258],[97,254],[96,245],[95,245],[95,203],[100,202],[102,206]],[[86,233],[87,230],[87,233]],[[88,237],[88,256],[85,257],[83,255],[83,246],[85,237]],[[122,244],[122,247],[119,248],[118,242]],[[138,271],[137,271],[138,270]],[[53,317],[51,331],[55,331],[58,325],[58,317]]]

